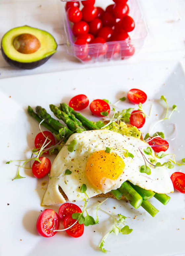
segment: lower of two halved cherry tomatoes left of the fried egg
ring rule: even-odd
[[[51,169],[51,161],[49,158],[41,156],[39,160],[41,163],[35,160],[32,165],[32,173],[38,179],[46,176]]]

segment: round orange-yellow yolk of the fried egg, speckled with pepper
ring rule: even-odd
[[[86,164],[86,177],[92,186],[99,190],[111,189],[116,180],[123,174],[125,163],[116,153],[105,150],[94,152]]]

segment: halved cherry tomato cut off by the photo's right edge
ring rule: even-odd
[[[173,186],[179,192],[185,194],[185,174],[181,172],[175,172],[171,175]]]

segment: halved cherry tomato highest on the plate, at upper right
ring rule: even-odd
[[[139,89],[131,89],[129,90],[127,97],[129,101],[133,104],[143,104],[147,100],[147,95],[144,91]]]

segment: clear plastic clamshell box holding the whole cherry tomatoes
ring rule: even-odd
[[[133,31],[128,32],[129,37],[122,40],[122,37],[120,37],[120,32],[118,31],[117,37],[112,38],[112,40],[106,40],[105,42],[101,42],[101,40],[97,39],[97,37],[99,37],[97,33],[96,36],[94,36],[94,40],[86,44],[83,44],[83,40],[80,40],[80,42],[78,42],[78,35],[74,35],[75,33],[73,26],[75,23],[69,20],[68,11],[66,10],[66,2],[68,3],[69,1],[61,0],[62,18],[66,39],[66,51],[69,55],[78,58],[82,63],[93,63],[110,60],[125,60],[132,57],[141,50],[145,38],[147,36],[148,30],[139,0],[127,1],[127,5],[129,6],[128,15],[133,18],[135,23]],[[81,1],[75,2],[79,2],[79,10],[82,11],[84,6],[82,5]],[[86,0],[84,0],[84,2],[86,2]],[[114,4],[115,2],[113,2],[112,0],[96,0],[94,6],[101,7],[105,13],[107,6]],[[84,19],[86,18],[85,16],[87,15],[83,15],[80,21],[84,21]],[[102,20],[102,17],[99,19]],[[112,29],[114,31],[116,29],[116,26],[119,26],[119,24],[121,24],[121,21],[122,20],[120,19],[116,19],[115,26],[112,26]],[[88,23],[89,27],[91,26],[91,22],[85,22]],[[102,27],[104,26],[106,25],[103,24]],[[77,27],[77,29],[79,28]],[[90,29],[88,33],[91,33],[91,30],[92,29]]]

